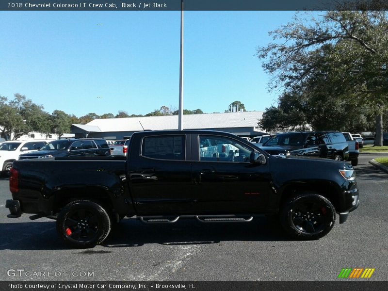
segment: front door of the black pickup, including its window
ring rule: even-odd
[[[269,164],[252,164],[255,150],[237,137],[192,135],[193,197],[196,213],[255,213],[271,191]]]

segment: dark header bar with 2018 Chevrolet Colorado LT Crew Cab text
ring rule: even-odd
[[[187,11],[388,10],[387,0],[184,0]],[[2,11],[174,11],[181,0],[1,0]]]

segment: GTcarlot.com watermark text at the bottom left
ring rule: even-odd
[[[29,271],[25,269],[7,270],[9,277],[45,278],[45,277],[94,277],[94,271]]]

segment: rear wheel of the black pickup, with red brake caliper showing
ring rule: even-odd
[[[111,231],[111,219],[98,203],[76,200],[59,212],[56,226],[58,235],[67,245],[91,248],[107,238]]]

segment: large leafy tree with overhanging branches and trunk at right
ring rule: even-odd
[[[272,89],[281,85],[288,92],[304,88],[318,93],[323,86],[315,87],[314,81],[327,78],[333,97],[343,104],[368,104],[377,116],[375,144],[382,145],[382,114],[388,103],[387,31],[386,11],[326,11],[322,19],[312,16],[310,22],[295,16],[270,32],[278,42],[259,48],[258,56],[273,75]]]

